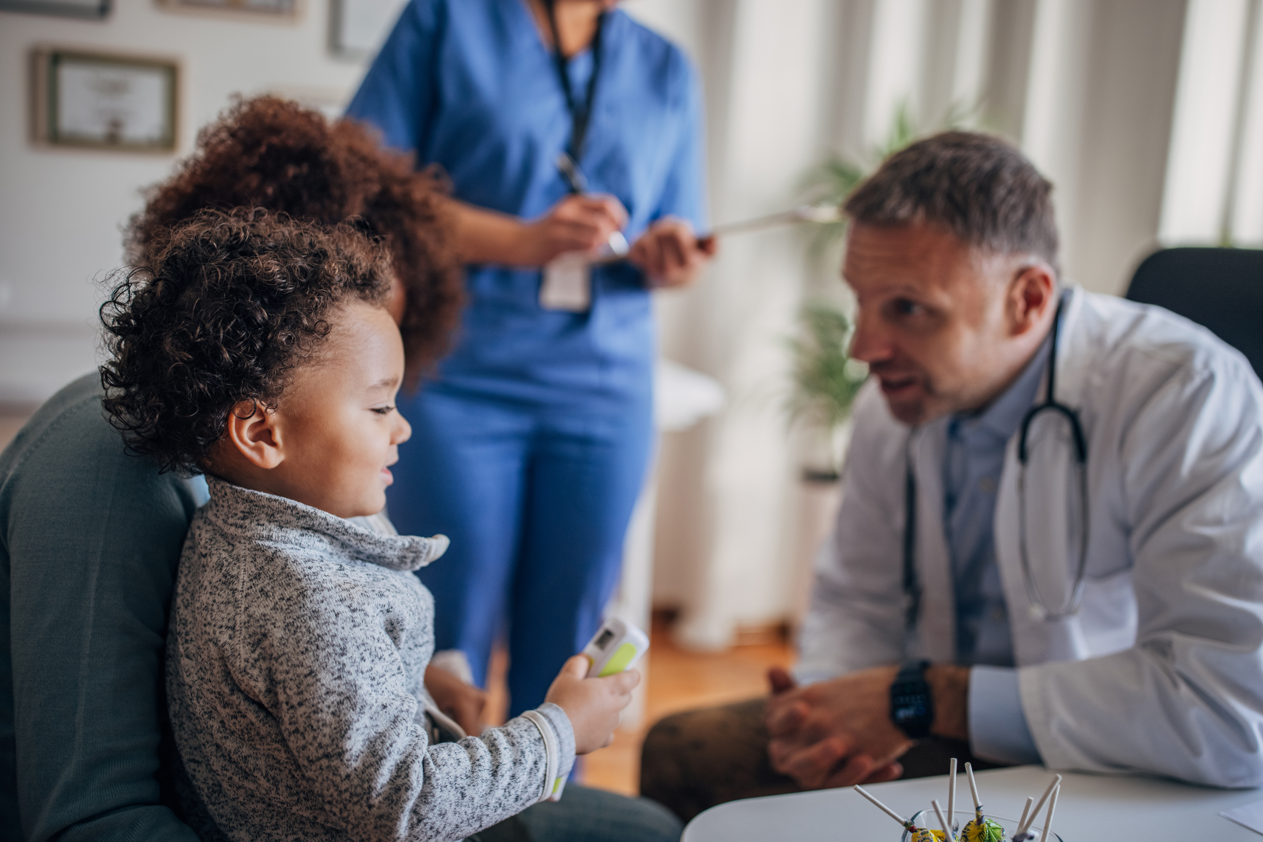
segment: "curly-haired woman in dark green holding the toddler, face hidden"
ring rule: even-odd
[[[351,218],[392,250],[410,376],[447,345],[461,293],[440,182],[357,126],[270,97],[239,102],[148,199],[129,234],[138,264],[207,207]],[[162,660],[181,544],[206,485],[130,456],[102,396],[99,375],[69,384],[0,454],[0,838],[196,842],[165,786]],[[433,667],[426,679],[441,708],[476,727],[476,689]],[[571,838],[584,805],[605,797],[567,790],[529,812]],[[678,834],[655,805],[609,795],[600,807],[632,828],[626,838]]]

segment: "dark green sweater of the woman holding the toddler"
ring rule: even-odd
[[[95,374],[0,454],[0,839],[197,842],[158,757],[167,607],[205,500],[124,452]]]

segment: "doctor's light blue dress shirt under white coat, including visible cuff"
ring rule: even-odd
[[[969,730],[974,754],[1039,762],[1022,712],[1008,605],[995,563],[995,494],[1004,452],[1036,401],[1051,337],[1017,380],[980,413],[947,422],[943,529],[956,602],[956,663],[970,665]]]

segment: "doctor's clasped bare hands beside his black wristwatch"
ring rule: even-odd
[[[890,722],[890,683],[898,667],[865,669],[796,687],[784,670],[768,678],[764,722],[772,768],[805,789],[893,780],[912,741]]]

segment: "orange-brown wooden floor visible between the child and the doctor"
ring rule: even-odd
[[[788,667],[793,661],[789,645],[779,635],[768,634],[764,643],[751,643],[719,653],[691,653],[674,645],[667,624],[654,622],[648,663],[640,667],[647,682],[644,722],[635,730],[620,728],[613,745],[585,759],[584,783],[634,795],[640,775],[640,742],[654,722],[678,711],[725,704],[767,693],[769,667]],[[505,659],[491,663],[489,688],[490,722],[503,722],[506,709],[504,693]]]

